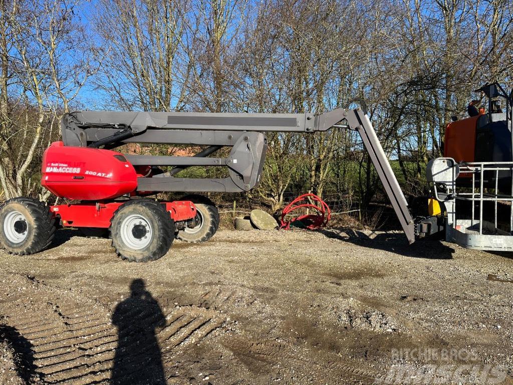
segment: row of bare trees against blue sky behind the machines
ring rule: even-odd
[[[80,1],[0,0],[6,198],[41,192],[44,148],[84,85],[123,110],[322,113],[363,98],[406,192],[420,195],[425,164],[442,154],[446,124],[466,115],[472,90],[512,82],[508,0],[98,0],[94,38],[74,11]],[[268,141],[253,197],[273,209],[290,189],[344,188],[363,204],[380,196],[354,132]]]

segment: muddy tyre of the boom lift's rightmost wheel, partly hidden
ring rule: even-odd
[[[202,195],[188,195],[180,200],[194,203],[200,224],[194,228],[180,230],[176,238],[191,243],[206,242],[212,238],[219,228],[219,211],[215,204]]]

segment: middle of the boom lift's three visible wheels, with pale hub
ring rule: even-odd
[[[174,238],[174,222],[164,206],[149,199],[123,203],[110,224],[117,255],[130,262],[148,262],[165,255]]]

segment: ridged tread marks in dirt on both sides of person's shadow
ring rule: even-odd
[[[18,287],[18,292],[1,298],[1,321],[30,343],[36,375],[44,383],[106,383],[121,340],[124,350],[117,353],[118,358],[144,362],[150,348],[138,337],[136,326],[130,325],[132,319],[152,324],[159,316],[164,317],[162,326],[155,330],[164,370],[167,354],[198,343],[225,322],[220,312],[195,306],[163,309],[160,315],[150,309],[124,309],[119,317],[127,326],[118,330],[109,310],[87,297],[21,275],[5,277],[4,284]],[[136,376],[137,370],[136,365],[128,369],[124,373],[127,380]]]

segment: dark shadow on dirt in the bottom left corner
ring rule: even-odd
[[[0,324],[0,343],[12,349],[16,375],[26,384],[35,381],[36,366],[32,344],[12,326]]]

